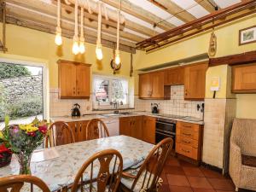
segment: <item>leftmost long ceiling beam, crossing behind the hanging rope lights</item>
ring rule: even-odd
[[[7,0],[6,2],[7,3],[15,3],[16,1],[18,1],[18,0]],[[38,14],[49,15],[48,18],[49,17],[54,17],[55,18],[55,5],[44,4],[44,3],[43,4],[39,3],[39,4],[36,5],[36,4],[33,4],[33,3],[35,3],[35,0],[29,0],[29,3],[30,3],[29,8],[25,7],[26,3],[24,3],[24,2],[23,3],[20,2],[18,5],[22,8],[24,8],[24,9],[27,9],[27,10],[31,9],[32,11],[37,11]],[[15,7],[15,6],[12,6],[12,7],[9,7],[9,9],[18,9],[18,8]],[[17,12],[18,12],[18,10],[17,10]],[[24,13],[24,11],[22,13]],[[62,20],[67,20],[69,22],[74,22],[73,21],[73,18],[74,18],[73,12],[70,13],[70,14],[67,14],[64,10],[62,10],[61,15],[62,15],[61,16]],[[24,13],[23,16],[26,16],[26,13]],[[27,13],[27,16],[32,17],[32,15],[30,15],[30,13]],[[62,23],[63,23],[63,21],[62,21]],[[90,28],[96,29],[97,28],[97,22],[95,20],[89,20],[87,18],[84,18],[84,26],[88,26]],[[109,34],[116,35],[116,29],[113,28],[112,26],[107,27],[107,26],[103,25],[102,26],[102,32],[108,32]],[[86,30],[85,30],[85,34],[86,34]],[[139,42],[139,41],[143,40],[143,38],[141,38],[137,35],[134,35],[130,32],[123,32],[123,31],[120,31],[120,37],[121,38],[127,38],[127,39],[129,39],[131,41],[135,41],[135,42]]]

